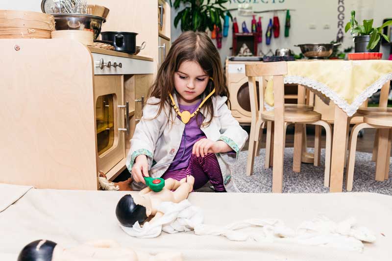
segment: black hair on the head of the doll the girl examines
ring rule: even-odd
[[[135,204],[133,197],[128,194],[117,203],[116,216],[124,227],[132,227],[136,221],[142,224],[147,219],[146,207]]]

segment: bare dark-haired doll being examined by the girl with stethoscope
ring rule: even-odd
[[[132,227],[136,221],[142,224],[147,218],[153,216],[150,223],[161,217],[163,213],[158,212],[157,208],[164,201],[179,203],[188,198],[193,190],[195,178],[191,175],[180,181],[175,179],[165,180],[165,187],[154,192],[149,187],[139,193],[123,196],[116,207],[116,216],[120,223],[125,227]]]

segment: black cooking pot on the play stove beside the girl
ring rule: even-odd
[[[101,32],[101,38],[105,41],[113,41],[115,51],[135,54],[136,49],[136,35],[131,32]]]

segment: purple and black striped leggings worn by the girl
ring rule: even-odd
[[[209,181],[214,186],[215,191],[226,192],[223,185],[221,167],[214,153],[208,153],[204,155],[204,158],[192,154],[187,167],[165,172],[161,178],[172,178],[179,181],[187,175],[195,177],[194,190],[200,189]]]

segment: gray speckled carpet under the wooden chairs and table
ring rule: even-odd
[[[325,150],[321,150],[321,166],[313,164],[302,164],[301,172],[293,172],[293,148],[285,148],[283,192],[284,193],[325,193],[329,189],[324,183],[324,157]],[[260,156],[255,158],[253,175],[246,176],[247,151],[240,152],[238,162],[232,166],[232,176],[239,190],[242,192],[271,192],[272,190],[272,168],[264,168],[265,149],[260,150]],[[391,167],[392,168],[392,167]],[[390,179],[387,181],[375,181],[375,163],[371,161],[371,154],[357,152],[355,157],[353,192],[377,192],[392,195],[392,172],[390,168]],[[344,176],[345,179],[345,176]],[[345,190],[343,182],[343,191]]]

